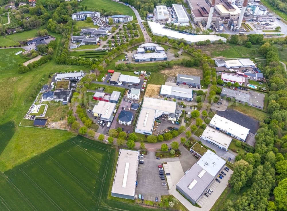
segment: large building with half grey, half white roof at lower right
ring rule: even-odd
[[[226,161],[210,150],[195,163],[177,183],[176,189],[193,204],[201,198]]]

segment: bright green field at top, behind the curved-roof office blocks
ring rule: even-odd
[[[107,11],[119,11],[121,14],[133,16],[133,20],[136,20],[135,13],[133,10],[128,7],[127,5],[117,3],[115,1],[110,0],[85,0],[82,1],[82,6],[87,6],[88,8],[98,8],[98,9],[105,9]]]

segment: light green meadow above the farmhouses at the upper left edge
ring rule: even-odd
[[[32,29],[29,31],[24,31],[21,33],[15,33],[15,34],[10,34],[10,35],[6,35],[6,36],[0,36],[0,45],[3,46],[13,46],[15,45],[16,42],[21,42],[21,41],[25,41],[27,39],[36,37],[37,35],[37,31],[41,30],[41,29],[45,29],[46,25],[40,26],[37,29]],[[58,35],[59,36],[59,35]]]

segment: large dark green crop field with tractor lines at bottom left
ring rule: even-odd
[[[0,173],[0,210],[152,210],[107,200],[115,148],[76,136]]]

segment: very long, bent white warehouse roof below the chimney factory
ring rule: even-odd
[[[168,30],[165,28],[162,28],[164,25],[160,25],[156,22],[148,21],[148,25],[150,29],[152,30],[152,34],[157,36],[167,36],[169,39],[185,39],[187,43],[189,44],[195,44],[199,41],[205,41],[210,40],[212,43],[214,41],[222,40],[223,42],[226,42],[226,38],[219,37],[217,35],[209,34],[209,35],[189,35],[189,34],[182,34],[173,30]]]

